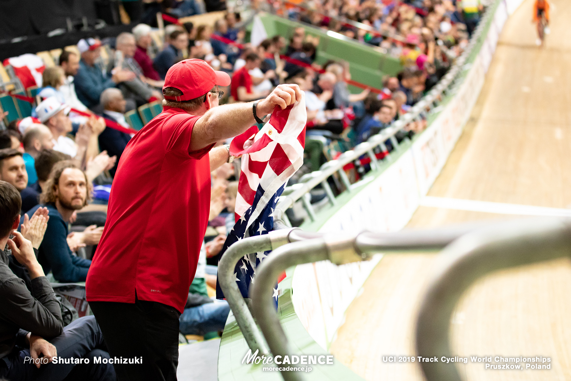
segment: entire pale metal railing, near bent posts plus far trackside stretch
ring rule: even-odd
[[[299,228],[289,228],[288,225],[291,224],[289,224],[285,212],[296,201],[301,200],[309,218],[315,220],[315,211],[313,211],[307,197],[311,189],[317,185],[323,186],[329,202],[335,205],[337,201],[327,182],[329,176],[338,173],[345,188],[350,190],[359,186],[359,183],[351,184],[343,170],[345,165],[367,155],[371,158],[371,169],[379,168],[379,160],[377,160],[374,150],[380,148],[381,151],[386,152],[384,142],[387,140],[391,141],[396,152],[399,152],[402,148],[399,147],[395,134],[409,123],[425,118],[427,113],[439,105],[444,96],[455,93],[459,85],[457,83],[459,74],[463,72],[464,64],[472,53],[483,27],[490,17],[493,17],[493,14],[486,11],[464,53],[457,58],[455,64],[435,88],[413,106],[409,113],[404,114],[399,121],[393,122],[387,129],[369,138],[367,142],[344,152],[336,160],[325,163],[319,170],[305,174],[297,184],[287,186],[274,211],[274,231],[267,235],[240,240],[231,245],[224,253],[218,265],[220,288],[222,288],[236,323],[252,352],[258,350],[260,355],[268,355],[271,352],[274,356],[291,353],[287,336],[280,325],[270,292],[279,274],[286,268],[320,260],[330,260],[339,265],[370,259],[373,253],[378,252],[442,249],[453,240],[481,226],[481,224],[463,224],[453,228],[421,231],[403,230],[392,233],[363,232],[352,237],[340,237],[339,234],[333,237],[325,237],[321,233],[309,233]],[[391,155],[385,156],[383,160],[391,161]],[[235,282],[235,265],[244,255],[267,250],[273,252],[271,256],[266,257],[260,263],[256,271],[256,281],[252,283],[250,290],[252,299],[244,299]],[[251,311],[254,312],[263,336],[256,326]],[[286,381],[303,379],[303,376],[296,372],[282,371],[282,376]]]

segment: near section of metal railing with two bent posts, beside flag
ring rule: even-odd
[[[283,356],[291,352],[272,302],[271,290],[280,273],[288,267],[320,260],[330,260],[340,265],[368,260],[374,253],[379,252],[442,249],[458,237],[481,226],[482,223],[469,223],[439,229],[331,236],[304,232],[300,228],[287,228],[283,221],[276,220],[276,230],[266,235],[245,238],[227,249],[218,264],[218,279],[236,323],[252,352],[258,350],[260,356],[270,352],[274,356]],[[252,283],[250,290],[251,299],[244,299],[236,285],[235,266],[244,255],[267,250],[272,250],[272,255],[267,256],[256,271],[256,281]],[[252,300],[255,302],[252,303]],[[263,336],[256,326],[251,310]],[[301,380],[301,375],[295,372],[283,371],[282,375],[286,381]]]

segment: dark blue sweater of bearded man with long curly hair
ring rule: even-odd
[[[39,207],[46,207],[50,216],[38,250],[38,262],[42,265],[43,271],[46,274],[53,272],[54,278],[62,283],[85,281],[91,261],[75,256],[71,252],[67,245],[67,223],[63,221],[54,204],[36,205],[28,211],[28,216],[33,215]],[[23,217],[20,220],[20,223],[22,222]]]

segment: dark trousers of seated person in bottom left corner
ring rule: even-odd
[[[39,369],[30,363],[30,350],[16,347],[0,360],[0,378],[11,381],[115,381],[111,364],[95,364],[95,359],[109,359],[103,335],[94,316],[79,318],[63,328],[63,334],[49,340],[58,352],[58,359],[89,359],[89,364],[49,363]],[[71,362],[71,361],[70,361]]]

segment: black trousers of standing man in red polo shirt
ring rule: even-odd
[[[91,301],[112,358],[142,358],[142,364],[113,364],[119,381],[176,380],[180,312],[170,305]]]

